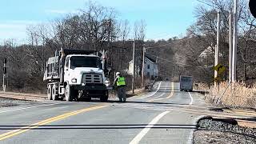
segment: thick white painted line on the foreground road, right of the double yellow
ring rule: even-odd
[[[136,137],[130,142],[130,144],[138,144],[142,140],[142,138],[150,131],[152,128],[163,116],[170,113],[170,111],[165,111],[161,114],[158,114]]]

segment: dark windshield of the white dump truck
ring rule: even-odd
[[[70,58],[71,69],[76,67],[95,67],[102,69],[101,61],[97,57],[74,56]]]

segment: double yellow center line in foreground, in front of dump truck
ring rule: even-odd
[[[28,130],[32,130],[32,129],[38,128],[38,126],[43,126],[43,125],[46,125],[46,124],[48,124],[50,122],[56,122],[58,120],[62,120],[64,118],[68,118],[68,117],[76,115],[76,114],[80,114],[80,113],[83,113],[83,112],[86,112],[86,111],[90,111],[90,110],[97,110],[97,109],[101,109],[101,108],[104,108],[104,107],[106,107],[106,106],[92,106],[92,107],[85,108],[85,109],[82,109],[82,110],[75,110],[75,111],[70,112],[70,113],[58,115],[58,116],[53,117],[53,118],[48,118],[48,119],[43,120],[41,122],[34,123],[34,124],[30,125],[30,126],[24,126],[24,127],[21,127],[20,129],[12,130],[10,132],[4,133],[4,134],[0,134],[0,141],[4,140],[6,138],[14,137],[15,135],[18,135],[18,134],[25,133]]]

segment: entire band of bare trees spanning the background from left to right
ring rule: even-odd
[[[115,71],[125,72],[132,60],[133,42],[136,43],[135,63],[142,67],[142,46],[157,59],[161,78],[178,80],[180,75],[192,75],[194,81],[212,83],[214,80],[214,46],[217,35],[217,10],[221,11],[220,63],[228,68],[230,0],[207,0],[210,7],[197,6],[196,22],[186,31],[184,38],[145,40],[146,22],[131,26],[128,20],[119,20],[112,8],[90,2],[78,14],[67,14],[50,24],[28,26],[28,42],[16,46],[8,40],[0,46],[0,59],[8,60],[10,90],[45,92],[42,82],[46,61],[55,50],[82,49],[108,50],[108,64]],[[253,82],[256,71],[256,22],[250,14],[246,0],[239,1],[238,12],[238,80]],[[132,27],[132,28],[131,28]],[[138,70],[138,77],[142,70]],[[2,74],[2,70],[0,71]],[[228,70],[223,80],[228,78]],[[138,78],[139,79],[139,78]],[[2,78],[0,78],[2,80]],[[138,82],[138,86],[139,82]]]

